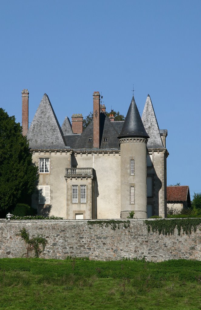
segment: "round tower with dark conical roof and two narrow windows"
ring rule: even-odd
[[[147,141],[134,96],[119,135],[121,148],[121,218],[147,218]]]

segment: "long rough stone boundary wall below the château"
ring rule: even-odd
[[[120,260],[123,257],[145,258],[160,262],[168,259],[201,260],[201,230],[190,235],[164,236],[149,233],[143,220],[130,220],[130,228],[103,228],[88,225],[86,220],[0,220],[0,258],[26,257],[25,241],[19,236],[25,228],[30,237],[38,234],[48,244],[40,258],[66,259],[67,256],[88,256],[94,260]]]

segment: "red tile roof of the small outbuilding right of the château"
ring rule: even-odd
[[[167,186],[167,201],[187,201],[189,186]]]

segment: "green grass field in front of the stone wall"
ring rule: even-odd
[[[201,309],[201,262],[0,259],[0,309]]]

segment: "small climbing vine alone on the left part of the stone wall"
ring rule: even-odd
[[[48,243],[48,241],[44,237],[39,235],[30,239],[29,233],[26,231],[25,228],[20,229],[20,236],[27,243],[27,256],[30,254],[30,252],[34,251],[34,257],[39,257],[40,253],[44,251],[45,246]]]

